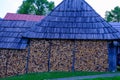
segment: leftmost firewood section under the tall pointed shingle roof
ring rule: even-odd
[[[48,50],[48,41],[31,40],[29,72],[48,71]]]

